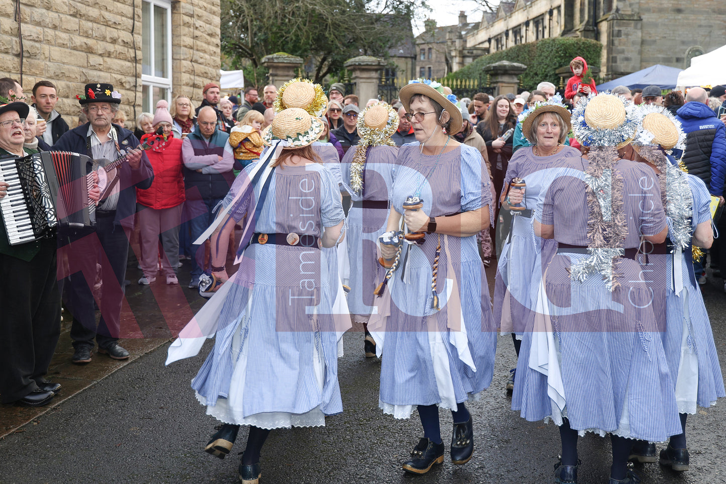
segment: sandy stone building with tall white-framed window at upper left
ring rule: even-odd
[[[75,124],[76,94],[91,82],[121,93],[133,123],[160,99],[202,100],[219,81],[219,0],[0,1],[0,74],[33,85],[52,81],[57,110]],[[73,123],[71,123],[73,121]]]

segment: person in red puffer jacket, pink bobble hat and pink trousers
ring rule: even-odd
[[[156,281],[158,272],[158,243],[164,256],[161,261],[162,275],[167,284],[178,284],[176,268],[179,265],[179,225],[181,209],[184,206],[184,176],[181,168],[181,140],[171,132],[173,121],[165,100],[156,103],[154,130],[163,129],[166,140],[147,150],[147,156],[154,169],[154,182],[147,190],[136,190],[141,235],[141,268],[144,275],[139,284]],[[154,134],[144,134],[142,142]]]

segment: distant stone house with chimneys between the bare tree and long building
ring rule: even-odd
[[[436,26],[436,20],[424,22],[425,30],[416,36],[416,76],[441,78],[486,54],[481,47],[467,47],[467,36],[476,31],[478,23],[468,22],[459,12],[457,25]]]

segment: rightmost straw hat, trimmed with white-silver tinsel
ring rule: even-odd
[[[632,146],[641,156],[647,146],[660,146],[666,151],[685,150],[685,133],[680,121],[666,108],[645,104],[635,108],[632,116],[637,121]]]

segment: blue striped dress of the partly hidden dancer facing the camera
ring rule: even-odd
[[[507,193],[507,187],[514,178],[523,178],[527,186],[522,206],[531,209],[532,214],[531,217],[513,215],[510,236],[502,246],[497,262],[494,322],[499,324],[502,333],[521,335],[529,313],[534,310],[539,281],[542,280],[542,259],[549,260],[554,255],[557,243],[534,236],[532,217],[552,180],[563,174],[574,177],[582,174],[580,170],[568,168],[567,161],[571,158],[579,159],[579,150],[563,146],[557,155],[534,156],[532,148],[527,147],[517,150],[509,161],[502,193]]]

